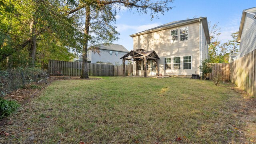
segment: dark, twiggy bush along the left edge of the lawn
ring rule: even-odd
[[[22,88],[26,84],[42,79],[47,76],[47,72],[40,68],[14,68],[0,70],[0,96]],[[40,78],[41,76],[41,78]]]

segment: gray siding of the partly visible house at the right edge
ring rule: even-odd
[[[256,19],[246,13],[244,27],[240,39],[240,57],[256,49]]]

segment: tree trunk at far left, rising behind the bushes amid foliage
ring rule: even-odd
[[[32,20],[30,23],[30,58],[32,59],[32,66],[35,66],[35,58],[36,58],[36,21]]]

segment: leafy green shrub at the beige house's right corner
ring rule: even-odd
[[[199,66],[201,78],[206,80],[208,75],[212,72],[212,64],[210,63],[209,59],[205,59],[202,61],[201,66]]]

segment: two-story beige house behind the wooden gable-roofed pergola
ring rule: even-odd
[[[147,75],[156,75],[156,68],[162,75],[200,74],[199,66],[208,58],[210,36],[206,17],[170,22],[130,36],[134,50],[154,50],[160,58],[157,62],[147,61]],[[144,75],[143,65],[143,60],[138,62],[138,75]]]

